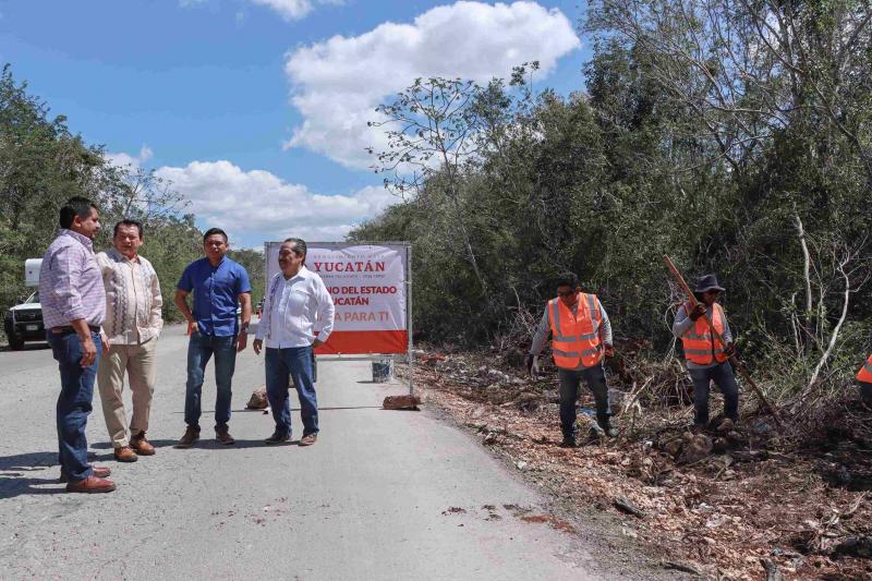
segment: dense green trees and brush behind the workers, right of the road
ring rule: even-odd
[[[681,300],[669,254],[691,281],[718,274],[752,359],[789,353],[801,380],[824,352],[859,362],[872,319],[870,21],[841,0],[592,2],[586,94],[533,94],[522,66],[508,85],[417,81],[379,108],[392,147],[375,167],[405,197],[350,238],[413,242],[416,328],[434,340],[517,327],[570,269],[618,337],[665,352]],[[434,94],[451,106],[422,107]]]

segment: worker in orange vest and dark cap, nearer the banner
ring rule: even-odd
[[[548,301],[542,315],[533,344],[525,358],[528,370],[537,368],[538,354],[552,336],[552,354],[557,365],[560,382],[560,431],[561,447],[574,448],[576,402],[581,379],[588,383],[596,401],[596,423],[609,437],[617,436],[611,427],[611,409],[608,401],[608,384],[603,368],[603,358],[615,353],[611,347],[611,323],[595,294],[581,292],[579,279],[565,273],[557,280],[557,298]],[[594,435],[600,431],[593,429]]]

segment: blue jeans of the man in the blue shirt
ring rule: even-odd
[[[215,425],[225,426],[230,421],[230,399],[233,372],[237,368],[237,336],[217,337],[199,331],[191,334],[187,343],[187,386],[184,397],[184,422],[199,429],[201,397],[206,364],[215,355]]]

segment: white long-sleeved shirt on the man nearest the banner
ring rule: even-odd
[[[306,268],[291,278],[277,273],[269,279],[255,339],[270,349],[308,347],[327,341],[334,329],[334,300],[318,275]]]

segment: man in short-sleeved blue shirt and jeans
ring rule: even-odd
[[[215,355],[215,437],[221,444],[233,444],[227,423],[230,421],[231,382],[237,353],[245,349],[252,318],[252,287],[242,265],[226,256],[227,233],[219,228],[203,235],[206,257],[194,261],[182,273],[175,289],[175,306],[192,326],[187,343],[187,388],[184,421],[187,428],[179,448],[187,448],[199,439],[201,396],[206,364]],[[194,292],[194,311],[186,296]],[[242,304],[242,320],[237,307]]]

